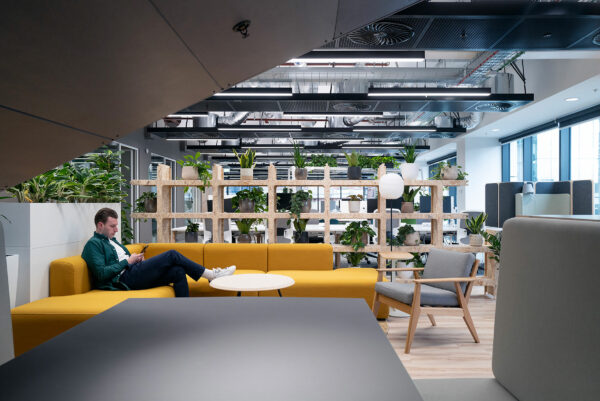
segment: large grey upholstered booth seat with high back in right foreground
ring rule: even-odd
[[[508,220],[494,323],[495,379],[415,380],[423,399],[599,399],[598,244],[600,220]]]

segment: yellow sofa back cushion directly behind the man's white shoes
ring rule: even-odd
[[[267,244],[206,244],[204,266],[267,271]]]

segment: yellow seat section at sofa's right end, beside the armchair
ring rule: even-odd
[[[369,308],[373,307],[375,269],[279,270],[267,274],[283,274],[294,279],[293,286],[281,290],[284,297],[363,298]],[[277,296],[277,291],[263,291],[259,296]],[[378,318],[387,317],[389,310],[384,306],[379,308]]]

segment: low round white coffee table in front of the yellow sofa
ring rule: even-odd
[[[219,290],[237,291],[237,296],[242,291],[270,291],[277,290],[281,297],[281,289],[291,287],[293,278],[282,274],[235,274],[218,277],[210,282],[210,286]]]

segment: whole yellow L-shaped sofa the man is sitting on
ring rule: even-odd
[[[128,245],[140,252],[144,244]],[[236,265],[235,274],[284,274],[295,284],[283,289],[284,297],[364,298],[373,304],[377,273],[374,269],[333,270],[333,248],[328,244],[149,244],[146,258],[175,249],[208,268]],[[216,290],[201,278],[188,278],[190,296],[235,296]],[[276,291],[244,292],[244,296],[277,296]],[[58,259],[50,265],[50,297],[12,310],[15,354],[51,339],[71,327],[128,298],[169,298],[171,286],[139,291],[92,289],[85,261],[80,256]],[[381,308],[378,317],[387,317]]]

